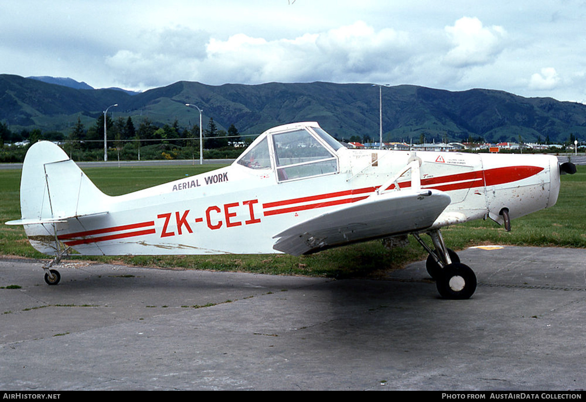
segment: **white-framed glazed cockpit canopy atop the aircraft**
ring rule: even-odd
[[[343,145],[316,122],[282,125],[265,131],[237,159],[250,169],[273,169],[278,181],[338,173],[336,151]]]

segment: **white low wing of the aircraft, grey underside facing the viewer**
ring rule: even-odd
[[[349,206],[306,220],[274,236],[272,246],[292,255],[393,236],[430,227],[450,203],[439,190],[400,190],[374,194]]]

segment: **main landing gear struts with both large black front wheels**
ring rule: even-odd
[[[415,239],[429,254],[425,267],[428,274],[435,280],[438,292],[445,299],[468,299],[476,290],[476,275],[468,265],[461,264],[458,254],[445,247],[444,238],[439,229],[427,232],[435,250],[428,246],[419,234]]]

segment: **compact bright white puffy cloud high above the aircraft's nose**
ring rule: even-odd
[[[456,67],[492,63],[504,48],[506,31],[502,26],[486,28],[478,18],[463,17],[454,26],[446,26],[454,47],[445,62]]]

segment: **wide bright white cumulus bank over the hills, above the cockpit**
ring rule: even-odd
[[[393,29],[378,32],[362,21],[295,39],[265,40],[242,33],[227,40],[212,39],[205,70],[224,71],[253,83],[267,81],[364,81],[376,71],[390,70],[405,57],[407,34]]]

